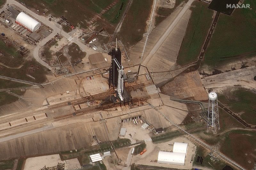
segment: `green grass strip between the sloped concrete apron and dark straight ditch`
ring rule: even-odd
[[[177,58],[180,66],[195,62],[200,54],[213,20],[213,11],[207,8],[208,5],[195,1],[190,7],[192,14]]]

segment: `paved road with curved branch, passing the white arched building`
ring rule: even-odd
[[[49,66],[46,62],[44,62],[39,57],[38,51],[39,51],[40,47],[44,46],[49,40],[51,40],[55,35],[57,35],[57,33],[59,33],[60,35],[64,36],[67,39],[72,39],[70,42],[76,43],[80,47],[80,49],[82,51],[85,51],[87,53],[86,55],[90,55],[90,54],[96,53],[96,51],[94,51],[91,48],[87,47],[82,42],[76,40],[75,38],[72,38],[71,35],[69,35],[65,31],[61,31],[62,29],[57,27],[55,23],[49,21],[48,18],[46,18],[44,16],[37,15],[35,12],[29,10],[28,8],[26,8],[25,6],[23,6],[22,4],[18,3],[15,0],[7,0],[6,3],[4,4],[3,8],[0,10],[0,12],[7,9],[7,4],[9,4],[9,5],[10,4],[16,5],[17,7],[19,7],[24,12],[28,13],[29,15],[33,16],[38,21],[42,22],[44,25],[52,28],[52,30],[53,30],[52,33],[49,36],[47,36],[46,38],[44,38],[41,42],[39,42],[38,45],[35,47],[35,49],[33,51],[33,56],[36,59],[36,61],[38,61],[40,64],[42,64],[43,66],[47,67],[48,69],[52,70],[51,66]]]

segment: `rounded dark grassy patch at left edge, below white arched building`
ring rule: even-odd
[[[3,40],[0,40],[0,62],[9,67],[18,67],[23,62],[23,57],[12,45],[8,46]]]

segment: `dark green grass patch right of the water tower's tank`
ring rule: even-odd
[[[253,125],[256,125],[255,99],[256,94],[246,89],[227,90],[219,95],[221,103],[227,105],[231,111],[240,113],[243,120]]]

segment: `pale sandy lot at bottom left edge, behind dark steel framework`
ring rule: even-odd
[[[46,167],[52,167],[57,166],[59,163],[65,164],[65,169],[72,170],[75,168],[81,168],[81,165],[77,158],[74,159],[68,159],[62,161],[60,159],[59,154],[55,155],[47,155],[47,156],[40,156],[40,157],[33,157],[33,158],[27,158],[24,170],[40,170],[44,166]]]

